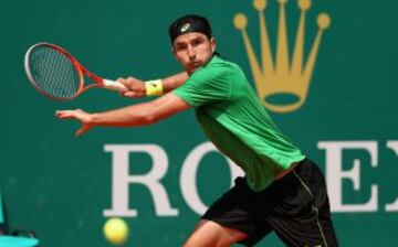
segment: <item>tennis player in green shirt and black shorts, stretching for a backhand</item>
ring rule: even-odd
[[[322,172],[277,129],[242,69],[217,55],[208,20],[182,17],[169,35],[184,73],[146,83],[119,79],[130,89],[126,96],[161,97],[105,112],[60,110],[56,116],[81,121],[78,136],[97,126],[150,125],[193,108],[209,139],[245,175],[201,216],[185,246],[254,246],[271,232],[286,246],[337,246]]]

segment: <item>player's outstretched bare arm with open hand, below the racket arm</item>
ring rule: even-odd
[[[84,110],[57,110],[60,119],[75,119],[82,124],[76,131],[80,136],[96,126],[133,127],[155,124],[190,106],[179,97],[167,94],[153,101],[133,105],[115,110],[88,114]]]

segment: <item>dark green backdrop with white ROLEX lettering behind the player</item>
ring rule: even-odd
[[[323,33],[306,100],[290,112],[270,111],[325,171],[342,246],[398,245],[398,182],[394,175],[398,172],[398,84],[392,71],[398,55],[397,8],[392,0],[313,0],[306,13],[305,57],[317,33],[318,13],[327,12],[331,26]],[[276,0],[268,1],[265,12],[275,57]],[[291,51],[298,12],[296,1],[286,3]],[[13,228],[34,229],[44,247],[109,246],[102,227],[111,210],[130,227],[125,246],[180,246],[201,206],[230,186],[228,161],[206,143],[192,111],[154,126],[94,129],[74,138],[77,124],[57,120],[56,109],[100,111],[146,99],[96,89],[73,101],[54,103],[41,97],[24,75],[24,52],[41,41],[65,47],[88,69],[108,78],[153,79],[179,72],[167,28],[186,13],[210,19],[218,51],[240,64],[254,86],[241,32],[233,25],[235,14],[244,13],[248,35],[261,61],[259,15],[252,1],[1,3],[0,190]],[[154,190],[157,200],[164,200],[159,208],[148,186],[137,183],[139,178],[148,179],[155,167],[159,180],[154,180]],[[119,176],[116,171],[127,173]],[[128,185],[123,179],[136,182]],[[118,186],[127,189],[125,196]],[[137,215],[114,206],[123,203]],[[259,246],[282,243],[271,235]]]

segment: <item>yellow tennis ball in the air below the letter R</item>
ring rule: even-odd
[[[121,245],[127,240],[128,226],[122,218],[109,218],[104,225],[105,238],[114,245]]]

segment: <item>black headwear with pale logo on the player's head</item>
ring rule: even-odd
[[[177,19],[171,23],[168,31],[171,44],[174,44],[174,41],[179,35],[190,32],[203,33],[209,39],[212,36],[209,21],[206,18],[197,14],[188,14]]]

